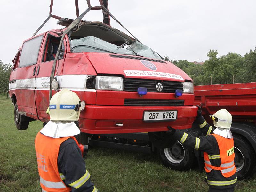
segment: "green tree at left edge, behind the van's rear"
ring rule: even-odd
[[[0,60],[0,94],[6,94],[7,98],[11,70],[12,66],[10,64],[4,64],[4,62]]]

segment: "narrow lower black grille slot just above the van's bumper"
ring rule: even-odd
[[[184,100],[175,100],[175,99],[124,99],[124,106],[184,106]]]

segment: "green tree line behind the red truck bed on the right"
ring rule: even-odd
[[[217,50],[210,49],[207,53],[208,60],[203,65],[195,64],[187,60],[170,60],[165,56],[164,60],[171,61],[181,68],[193,80],[194,85],[228,84],[256,82],[256,47],[243,56],[229,52],[227,55],[217,57]]]

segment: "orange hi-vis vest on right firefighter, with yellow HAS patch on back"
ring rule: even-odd
[[[221,137],[217,134],[213,135],[218,143],[220,154],[217,155],[208,155],[208,153],[204,152],[204,169],[207,173],[214,170],[220,170],[221,174],[224,177],[231,177],[236,173],[236,167],[234,163],[235,153],[234,153],[234,140],[228,139],[225,137]],[[220,167],[212,166],[210,159],[220,159],[221,165]]]

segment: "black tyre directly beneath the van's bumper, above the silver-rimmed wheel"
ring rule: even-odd
[[[169,148],[176,139],[173,135],[167,134],[165,131],[148,132],[149,140],[156,148]]]

